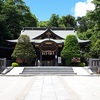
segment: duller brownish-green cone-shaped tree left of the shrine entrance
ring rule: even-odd
[[[30,38],[27,35],[20,35],[18,43],[12,53],[12,58],[21,59],[21,63],[27,63],[28,65],[36,57],[35,50],[30,43]]]

